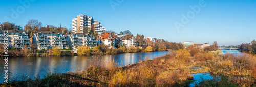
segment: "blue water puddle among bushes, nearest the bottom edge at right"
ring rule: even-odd
[[[189,83],[188,86],[195,86],[196,83],[198,84],[202,79],[211,80],[213,78],[210,73],[196,73],[191,75],[194,77],[194,82]]]

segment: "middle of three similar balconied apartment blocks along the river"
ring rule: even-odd
[[[37,45],[38,49],[51,49],[53,47],[67,49],[69,47],[67,34],[53,31],[37,32],[34,34],[32,42]]]

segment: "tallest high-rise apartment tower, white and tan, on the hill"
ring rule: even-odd
[[[87,15],[78,15],[72,19],[72,32],[74,33],[86,33],[91,30],[93,17]]]

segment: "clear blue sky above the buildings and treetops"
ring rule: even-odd
[[[84,14],[100,21],[106,30],[130,30],[134,35],[170,42],[217,41],[219,45],[239,45],[256,39],[255,0],[31,0],[29,4],[20,1],[1,0],[1,23],[9,21],[24,27],[29,19],[37,19],[43,26],[61,23],[71,29],[72,19]],[[199,6],[200,10],[194,11],[190,6]],[[178,29],[175,24],[182,27]]]

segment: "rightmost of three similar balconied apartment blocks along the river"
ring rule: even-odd
[[[77,47],[77,46],[89,46],[90,48],[97,46],[95,37],[90,34],[84,33],[71,33],[69,35],[69,47]]]

